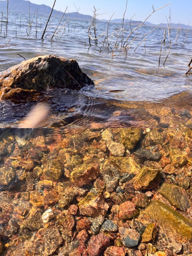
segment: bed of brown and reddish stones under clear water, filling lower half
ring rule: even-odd
[[[1,255],[192,254],[190,129],[2,131],[0,144]]]

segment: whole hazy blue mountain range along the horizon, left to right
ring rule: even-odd
[[[6,12],[6,8],[7,8],[7,1],[0,1],[0,13],[1,12]],[[15,14],[28,14],[29,13],[29,2],[28,1],[24,1],[24,0],[9,0],[9,8],[10,8],[10,13],[15,13]],[[51,8],[47,5],[36,5],[33,3],[30,3],[30,12],[31,15],[33,15],[33,13],[37,10],[38,8],[38,14],[40,15],[44,15],[44,16],[48,16],[51,12]],[[53,10],[52,15],[54,16],[58,11]],[[59,12],[58,16],[61,16],[63,14],[63,12]],[[78,14],[78,15],[77,15]],[[68,13],[67,13],[68,15]],[[90,21],[90,19],[92,19],[92,16],[90,15],[84,15],[84,14],[80,14],[77,12],[72,12],[69,13],[70,18],[76,19],[76,17],[78,18],[78,20],[88,20]],[[103,22],[108,22],[108,20],[102,20]],[[111,22],[113,23],[121,23],[122,19],[115,19],[115,20],[111,20]],[[130,23],[130,20],[125,19],[125,24],[126,23]],[[142,21],[135,21],[132,20],[131,24],[134,26],[137,26],[141,23]],[[157,25],[152,24],[150,22],[145,22],[144,23],[145,26],[151,26],[151,27],[155,27]],[[160,25],[161,28],[167,28],[167,24],[162,23]],[[178,24],[174,24],[171,23],[171,27],[178,27]],[[192,29],[190,26],[184,25],[184,24],[179,24],[180,28],[183,29]]]

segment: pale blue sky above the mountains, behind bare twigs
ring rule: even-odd
[[[52,6],[54,0],[30,0],[35,4],[45,4]],[[125,11],[126,0],[57,0],[55,4],[56,10],[62,10],[68,6],[69,12],[76,11],[73,4],[75,3],[81,14],[92,15],[93,6],[96,9],[100,8],[99,13],[107,13],[100,16],[104,19],[109,19],[111,15],[115,12],[113,18],[122,18]],[[154,8],[159,8],[167,3],[171,2],[171,5],[155,12],[152,17],[149,18],[149,22],[167,23],[166,17],[169,16],[169,9],[171,7],[171,22],[173,23],[184,23],[186,25],[192,25],[191,18],[191,1],[190,0],[128,0],[128,8],[125,17],[130,18],[134,14],[134,20],[144,20],[152,11],[152,5]]]

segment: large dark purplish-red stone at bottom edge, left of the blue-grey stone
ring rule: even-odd
[[[100,256],[101,253],[110,245],[110,237],[99,233],[97,236],[92,236],[88,241],[89,256]]]

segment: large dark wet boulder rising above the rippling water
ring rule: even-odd
[[[0,99],[15,98],[51,88],[79,89],[93,81],[74,59],[38,56],[0,73]]]

